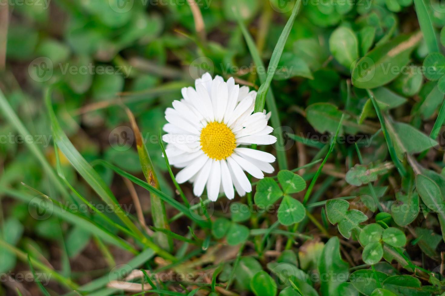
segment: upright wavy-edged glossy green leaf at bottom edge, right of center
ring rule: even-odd
[[[321,281],[321,295],[342,296],[338,288],[348,278],[349,264],[341,259],[338,237],[331,237],[324,245],[318,262],[318,271],[324,278]]]

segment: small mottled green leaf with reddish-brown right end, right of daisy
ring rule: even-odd
[[[356,164],[346,173],[345,180],[351,185],[360,186],[362,184],[368,184],[369,182],[376,181],[379,175],[388,173],[392,168],[392,163],[387,162],[378,166],[365,166]]]

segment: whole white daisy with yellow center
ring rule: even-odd
[[[272,154],[242,148],[240,145],[270,145],[276,138],[267,126],[270,114],[253,113],[256,91],[239,87],[233,78],[224,82],[209,73],[195,80],[195,88],[184,87],[180,101],[166,109],[166,154],[170,164],[182,168],[178,183],[193,183],[193,193],[201,196],[207,187],[210,200],[224,192],[229,199],[251,192],[252,186],[243,171],[261,179],[272,173]]]

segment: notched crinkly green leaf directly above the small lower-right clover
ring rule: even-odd
[[[396,192],[396,199],[391,205],[392,219],[399,226],[406,226],[413,222],[419,214],[419,194],[412,191],[407,194]]]

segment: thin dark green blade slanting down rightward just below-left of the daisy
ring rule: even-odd
[[[111,163],[106,162],[104,160],[94,161],[94,164],[100,164],[102,166],[108,167],[108,168],[114,170],[118,175],[125,177],[125,178],[129,179],[131,182],[133,182],[134,184],[137,184],[137,185],[141,186],[142,188],[145,188],[148,191],[156,194],[157,196],[162,198],[163,201],[170,204],[178,211],[182,212],[184,215],[186,215],[191,220],[196,222],[196,224],[198,224],[199,226],[201,226],[203,228],[208,228],[210,226],[210,224],[208,222],[202,221],[202,220],[198,219],[197,217],[195,217],[195,215],[193,215],[192,212],[190,211],[190,209],[188,209],[185,205],[182,205],[180,202],[178,202],[174,198],[172,198],[172,197],[166,195],[165,193],[163,193],[162,191],[154,188],[152,185],[148,184],[147,182],[144,182],[141,179],[134,177],[132,174],[129,174],[129,173],[125,172],[124,170],[121,170],[117,166],[113,166]]]

